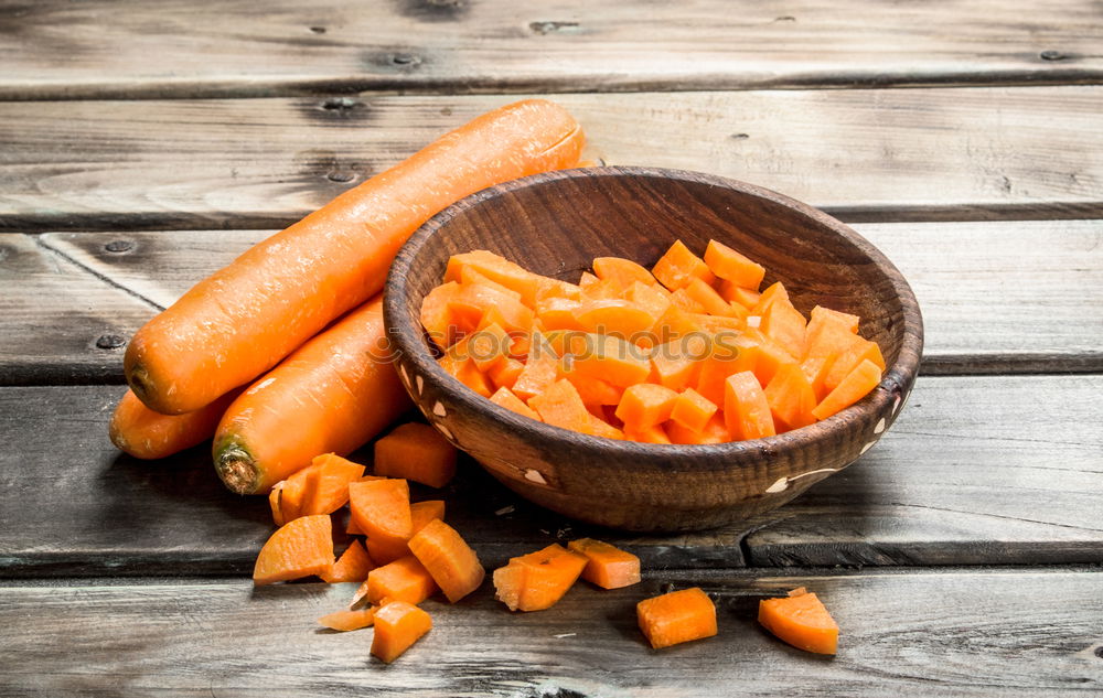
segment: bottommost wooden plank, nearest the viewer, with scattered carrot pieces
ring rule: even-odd
[[[763,573],[764,572],[764,573]],[[424,608],[433,629],[387,666],[373,630],[318,616],[353,584],[254,590],[248,581],[0,587],[0,677],[12,696],[1075,696],[1103,691],[1103,572],[932,570],[777,576],[653,574],[511,614],[488,583]],[[700,586],[718,634],[653,651],[634,605],[666,584]],[[835,657],[782,644],[758,601],[805,586],[843,627]]]

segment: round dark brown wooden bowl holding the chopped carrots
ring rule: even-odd
[[[452,378],[428,348],[421,299],[448,257],[489,249],[577,282],[595,257],[651,267],[676,240],[702,254],[716,238],[781,280],[805,315],[856,313],[888,371],[866,398],[786,433],[716,445],[590,437],[522,417]],[[764,286],[763,286],[764,288]],[[709,528],[772,509],[865,453],[892,425],[919,368],[919,305],[892,264],[831,216],[722,178],[649,168],[592,168],[493,186],[442,211],[410,237],[387,279],[384,312],[399,376],[457,447],[517,494],[581,520],[631,530]]]

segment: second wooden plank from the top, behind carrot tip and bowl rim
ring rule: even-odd
[[[282,227],[511,99],[0,104],[0,227]],[[1103,213],[1099,86],[557,99],[610,164],[742,179],[849,221]]]

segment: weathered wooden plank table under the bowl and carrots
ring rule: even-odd
[[[600,7],[610,6],[610,7]],[[0,4],[0,694],[597,697],[1103,691],[1103,13],[1091,0]],[[861,460],[768,516],[591,531],[468,463],[488,566],[593,533],[640,587],[512,615],[483,589],[385,667],[254,590],[271,530],[197,448],[120,455],[127,339],[195,280],[470,117],[552,94],[608,163],[807,201],[911,281],[923,376]],[[650,651],[634,603],[718,600]],[[806,586],[835,658],[757,601]]]

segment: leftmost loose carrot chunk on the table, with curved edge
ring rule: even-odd
[[[260,587],[332,571],[333,526],[329,515],[303,516],[279,528],[260,548],[253,583]]]

